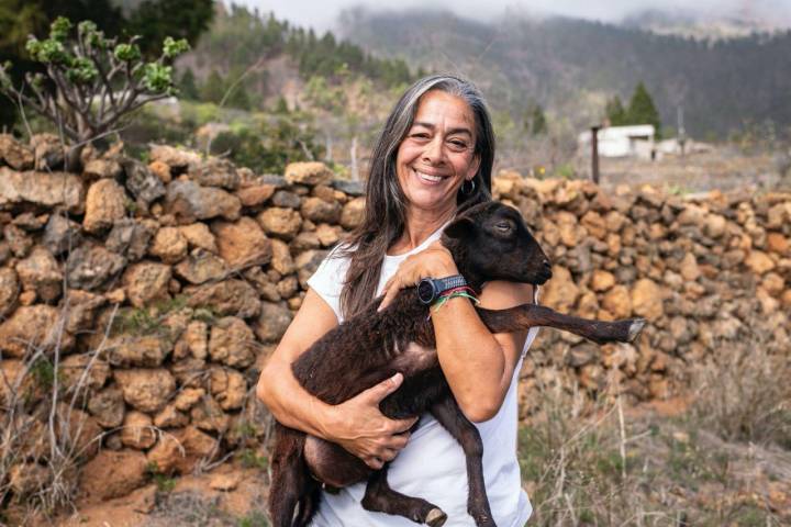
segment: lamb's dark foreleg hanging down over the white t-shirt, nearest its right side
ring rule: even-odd
[[[478,428],[467,419],[456,400],[446,397],[431,408],[443,427],[461,445],[467,458],[467,512],[478,527],[495,527],[483,482],[483,442]]]

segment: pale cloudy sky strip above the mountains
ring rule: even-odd
[[[230,0],[226,0],[226,2]],[[528,13],[562,14],[616,22],[644,9],[692,10],[713,15],[749,16],[791,24],[791,0],[234,0],[261,12],[274,11],[280,19],[316,30],[334,27],[337,14],[346,8],[366,5],[372,9],[445,8],[474,19],[497,19],[506,9]]]

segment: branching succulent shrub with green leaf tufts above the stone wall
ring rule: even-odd
[[[144,104],[176,94],[172,60],[189,49],[186,40],[166,37],[161,54],[146,61],[140,37],[108,38],[91,21],[56,19],[49,37],[27,40],[25,49],[44,72],[27,74],[22,87],[11,80],[11,64],[0,65],[0,91],[49,120],[70,144],[67,168],[79,166],[85,145],[119,126]]]

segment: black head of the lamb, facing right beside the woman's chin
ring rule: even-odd
[[[442,243],[474,289],[490,280],[541,285],[552,278],[552,264],[519,211],[497,201],[461,212]]]

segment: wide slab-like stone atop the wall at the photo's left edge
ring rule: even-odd
[[[32,204],[64,208],[73,214],[85,211],[85,187],[79,176],[66,172],[16,172],[0,167],[0,211]]]

